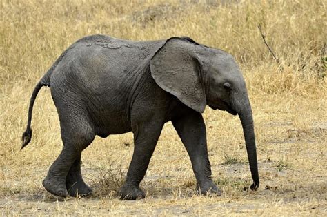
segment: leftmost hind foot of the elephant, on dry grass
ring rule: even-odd
[[[55,196],[61,196],[63,198],[66,198],[68,196],[65,181],[59,180],[58,178],[46,176],[42,184],[48,192],[54,194]]]

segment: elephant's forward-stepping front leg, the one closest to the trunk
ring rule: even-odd
[[[220,196],[221,192],[211,178],[206,125],[201,114],[194,110],[188,110],[183,116],[172,120],[172,124],[190,156],[195,178],[197,178],[197,192]]]

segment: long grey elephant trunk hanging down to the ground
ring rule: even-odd
[[[255,130],[253,124],[252,109],[247,94],[245,99],[246,102],[240,103],[237,111],[243,127],[244,138],[246,142],[246,151],[248,152],[248,162],[250,165],[250,171],[253,179],[253,184],[250,188],[252,190],[256,190],[257,187],[259,187],[259,172],[257,164],[257,150],[255,147]]]

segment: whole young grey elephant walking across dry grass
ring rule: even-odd
[[[126,41],[103,35],[80,39],[63,52],[37,84],[30,101],[23,147],[30,142],[35,97],[50,87],[59,114],[63,149],[43,186],[66,197],[92,192],[81,176],[81,152],[96,135],[132,131],[135,148],[123,199],[144,198],[146,174],[164,123],[172,121],[197,179],[197,192],[217,194],[212,182],[201,113],[205,106],[239,114],[254,183],[259,187],[252,110],[246,84],[232,56],[188,37]]]

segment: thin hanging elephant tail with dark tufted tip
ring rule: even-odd
[[[46,73],[45,76],[43,76],[41,81],[39,81],[39,83],[37,83],[37,85],[34,87],[32,96],[30,98],[30,107],[28,107],[28,124],[25,132],[23,132],[23,136],[21,136],[21,140],[23,142],[21,149],[23,149],[23,147],[28,145],[28,143],[30,143],[30,140],[32,138],[32,129],[30,127],[30,123],[32,122],[32,110],[33,110],[34,101],[37,98],[37,94],[39,93],[39,90],[41,90],[43,86],[50,86],[49,79],[48,79],[50,74],[49,71],[48,73]]]

